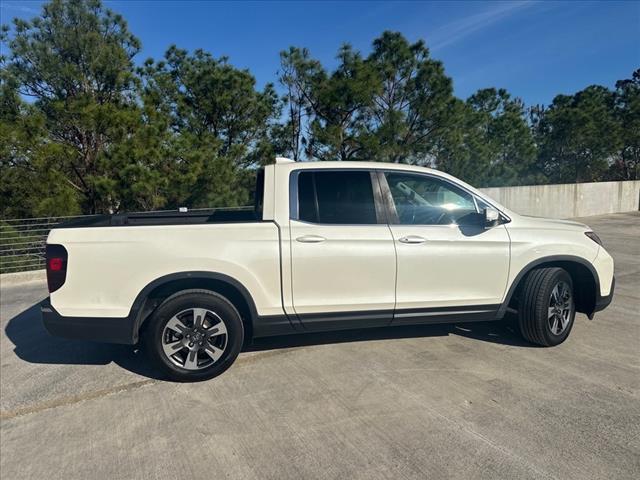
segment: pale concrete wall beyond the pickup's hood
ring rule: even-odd
[[[516,213],[538,217],[589,217],[640,208],[640,180],[481,190]]]

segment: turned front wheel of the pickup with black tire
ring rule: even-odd
[[[518,308],[522,336],[551,347],[564,342],[576,315],[571,276],[562,268],[537,268],[527,274]]]

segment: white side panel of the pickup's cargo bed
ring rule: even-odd
[[[85,225],[98,228],[53,229],[47,243],[64,246],[68,267],[64,285],[51,293],[51,305],[64,316],[125,318],[138,294],[158,279],[214,272],[242,285],[259,315],[281,313],[277,225],[207,221],[210,217],[144,216],[147,223],[123,226],[108,226],[105,218],[102,226]]]

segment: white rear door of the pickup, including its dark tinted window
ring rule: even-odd
[[[296,170],[290,179],[293,306],[308,328],[387,325],[396,256],[368,170]]]

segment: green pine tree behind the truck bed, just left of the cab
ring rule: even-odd
[[[254,77],[227,58],[176,47],[161,61],[148,60],[141,74],[147,124],[156,126],[150,134],[165,139],[155,155],[163,158],[165,178],[171,177],[166,204],[246,204],[248,169],[274,156],[279,100],[273,85],[258,91]]]

